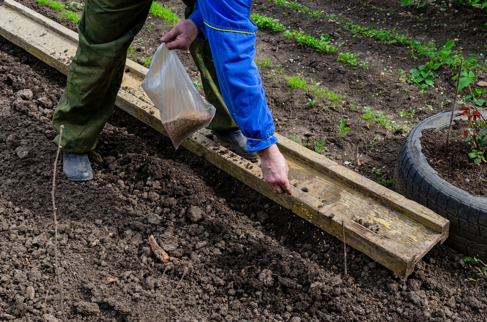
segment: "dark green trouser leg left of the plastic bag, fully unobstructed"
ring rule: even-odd
[[[122,84],[127,49],[143,27],[151,0],[85,0],[79,44],[57,104],[53,125],[64,125],[61,146],[85,153],[112,114]],[[57,145],[59,136],[54,139]]]

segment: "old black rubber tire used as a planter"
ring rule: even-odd
[[[487,117],[487,112],[482,114]],[[448,128],[450,115],[451,112],[433,115],[412,128],[399,151],[393,189],[450,220],[447,245],[466,255],[487,259],[487,198],[474,197],[438,177],[421,152],[421,131]]]

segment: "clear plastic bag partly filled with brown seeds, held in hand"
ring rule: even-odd
[[[183,140],[208,126],[216,108],[194,87],[175,50],[157,48],[141,84],[159,109],[161,121],[177,149]]]

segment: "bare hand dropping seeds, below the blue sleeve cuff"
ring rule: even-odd
[[[261,158],[262,177],[276,194],[293,194],[291,185],[287,179],[289,168],[286,159],[282,156],[276,144],[261,151],[257,151]]]

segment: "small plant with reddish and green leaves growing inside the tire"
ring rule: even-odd
[[[469,127],[462,129],[461,136],[465,142],[470,142],[473,144],[474,148],[472,152],[468,153],[468,157],[473,159],[476,164],[486,161],[486,150],[487,150],[487,122],[482,117],[480,112],[474,107],[464,106],[460,108],[462,113],[460,115],[465,115],[468,118]],[[475,125],[475,121],[480,120],[479,125]]]

